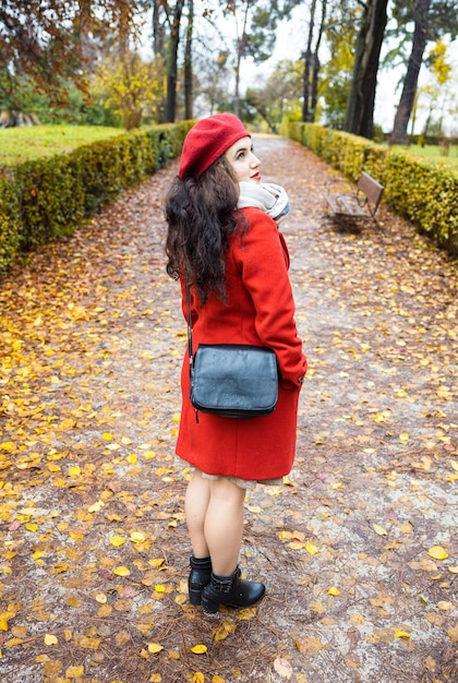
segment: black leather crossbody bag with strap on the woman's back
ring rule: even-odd
[[[278,399],[275,352],[264,346],[201,344],[193,354],[191,292],[186,286],[191,403],[225,418],[256,418],[274,411]]]

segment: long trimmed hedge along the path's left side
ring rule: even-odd
[[[138,130],[0,169],[0,273],[20,252],[73,235],[85,217],[179,156],[192,124]]]

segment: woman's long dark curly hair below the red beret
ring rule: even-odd
[[[229,236],[237,229],[239,184],[225,156],[198,178],[174,178],[166,197],[167,273],[185,277],[205,303],[210,293],[226,300]]]

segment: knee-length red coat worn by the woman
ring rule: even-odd
[[[192,298],[193,349],[198,344],[253,344],[277,355],[281,382],[273,414],[249,420],[198,414],[190,402],[189,357],[182,373],[182,409],[177,454],[209,475],[274,479],[294,459],[298,399],[306,371],[294,322],[288,277],[289,254],[277,225],[257,208],[244,208],[246,232],[230,239],[227,256],[228,303],[215,296],[202,307]],[[182,309],[186,315],[182,284]]]

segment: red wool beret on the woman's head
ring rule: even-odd
[[[216,113],[201,119],[184,139],[179,177],[198,178],[231,145],[246,135],[251,137],[251,133],[233,113]]]

